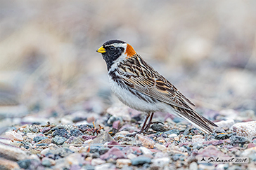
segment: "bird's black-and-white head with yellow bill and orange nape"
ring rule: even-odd
[[[128,43],[120,40],[110,40],[98,48],[96,52],[100,52],[105,60],[108,70],[114,62],[121,62],[124,59],[132,57],[136,54],[134,48]]]

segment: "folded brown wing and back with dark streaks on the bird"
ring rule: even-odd
[[[129,87],[172,106],[193,111],[185,101],[195,105],[184,97],[174,85],[146,64],[139,55],[127,59],[117,71]]]

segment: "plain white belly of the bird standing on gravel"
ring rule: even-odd
[[[117,96],[118,99],[120,99],[120,101],[122,101],[123,104],[129,106],[130,108],[134,108],[137,111],[149,113],[155,111],[164,111],[165,108],[168,107],[167,104],[162,103],[160,101],[148,102],[139,99],[139,97],[129,92],[129,90],[125,90],[119,85],[117,85],[117,83],[113,81],[112,78],[110,78],[110,76],[109,80],[110,87],[113,93]],[[141,94],[141,96],[146,97],[146,99],[148,99],[149,101],[151,100],[151,98],[146,96],[145,94]]]

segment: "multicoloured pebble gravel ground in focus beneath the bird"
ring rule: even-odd
[[[231,111],[215,113],[215,118],[222,118],[226,112]],[[155,120],[162,120],[164,125],[153,124],[147,133],[129,136],[139,130],[143,115],[126,106],[108,108],[107,115],[99,117],[96,122],[101,123],[95,126],[90,122],[95,120],[94,114],[83,118],[79,115],[75,112],[65,118],[73,122],[70,125],[40,125],[39,118],[21,118],[20,124],[30,120],[30,125],[13,126],[1,135],[1,169],[196,170],[256,166],[255,121],[222,120],[216,122],[219,128],[207,135],[172,115],[161,119],[157,114]],[[244,157],[248,162],[198,163],[202,157]]]

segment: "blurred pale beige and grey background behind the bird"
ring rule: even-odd
[[[256,1],[0,3],[1,127],[104,115],[118,101],[96,50],[110,39],[131,44],[202,114],[255,114]]]

